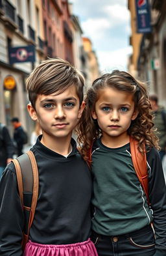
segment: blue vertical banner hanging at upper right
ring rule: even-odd
[[[137,33],[150,33],[150,8],[148,0],[136,0]]]

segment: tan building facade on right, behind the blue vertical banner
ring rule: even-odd
[[[132,0],[128,1],[129,5]],[[149,92],[156,93],[162,105],[166,103],[166,2],[149,0],[151,14],[151,33],[144,33],[139,37],[136,57],[137,76],[148,81]],[[136,8],[136,7],[135,7]],[[131,17],[134,15],[130,9]],[[133,30],[132,30],[133,36]],[[130,61],[131,64],[131,61]],[[133,64],[133,63],[132,63]]]

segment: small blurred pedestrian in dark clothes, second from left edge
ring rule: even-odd
[[[16,154],[18,156],[21,156],[23,154],[23,144],[25,139],[25,132],[21,126],[21,122],[19,122],[18,117],[13,117],[12,120],[12,126],[14,127],[14,142],[16,146]]]

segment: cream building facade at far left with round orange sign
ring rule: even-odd
[[[38,8],[38,19],[35,12]],[[27,91],[25,81],[35,64],[43,59],[42,27],[40,24],[41,12],[38,1],[32,0],[1,0],[0,1],[0,106],[1,122],[11,128],[10,119],[19,117],[25,130],[29,130],[29,117],[27,115]],[[18,60],[27,54],[25,47],[36,48],[36,62],[10,63],[10,48],[20,47],[17,52]]]

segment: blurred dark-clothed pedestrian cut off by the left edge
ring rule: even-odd
[[[0,122],[0,178],[6,165],[9,164],[14,155],[14,144],[5,124]]]

